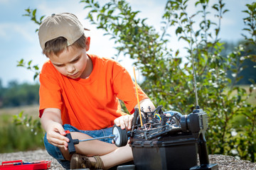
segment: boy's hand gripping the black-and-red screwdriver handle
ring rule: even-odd
[[[48,124],[46,130],[46,138],[48,142],[55,147],[62,147],[65,150],[68,150],[68,137],[65,137],[66,133],[60,123],[51,122]]]

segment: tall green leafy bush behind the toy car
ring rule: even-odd
[[[176,110],[188,114],[195,107],[191,55],[195,57],[196,79],[200,106],[210,117],[208,149],[210,154],[229,154],[255,162],[256,106],[247,103],[247,98],[255,89],[251,81],[250,91],[246,92],[235,84],[241,79],[243,61],[255,62],[255,55],[245,48],[255,48],[255,7],[247,4],[245,23],[245,44],[235,48],[228,56],[221,55],[224,43],[220,41],[220,23],[228,12],[222,0],[209,6],[209,0],[194,1],[199,11],[188,16],[188,0],[169,0],[163,16],[163,29],[156,33],[146,24],[146,19],[137,18],[139,11],[124,0],[112,0],[103,6],[94,0],[81,1],[89,8],[87,18],[97,28],[115,40],[118,54],[136,59],[134,63],[146,78],[142,89],[156,105],[166,110]],[[213,13],[210,11],[213,10]],[[28,8],[26,16],[36,20],[36,9]],[[210,21],[215,16],[218,22]],[[169,29],[174,28],[178,40],[187,43],[184,47],[188,55],[181,56],[179,50],[169,47]],[[233,79],[227,77],[232,72]],[[234,91],[236,92],[235,95]],[[245,125],[233,125],[235,118],[245,118]]]

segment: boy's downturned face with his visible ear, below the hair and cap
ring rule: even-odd
[[[63,52],[57,55],[50,55],[48,58],[53,66],[66,77],[71,79],[83,78],[85,79],[90,75],[90,69],[87,67],[89,57],[86,55],[86,51],[90,47],[90,38],[87,38],[85,48],[78,48],[74,45],[70,45]]]

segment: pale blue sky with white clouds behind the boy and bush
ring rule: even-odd
[[[101,0],[101,2],[107,0]],[[195,0],[193,0],[195,1]],[[211,0],[217,1],[217,0]],[[83,26],[90,28],[91,46],[89,53],[100,55],[101,57],[113,57],[114,41],[103,36],[102,30],[97,30],[89,21],[85,20],[87,11],[83,9],[84,4],[79,0],[0,0],[0,79],[6,86],[9,81],[17,80],[19,83],[33,83],[33,72],[22,67],[16,67],[17,61],[33,60],[32,64],[38,64],[41,68],[43,62],[47,60],[41,53],[38,42],[38,35],[35,33],[38,26],[30,21],[26,16],[25,9],[37,8],[38,16],[50,16],[51,13],[70,12],[75,13]],[[134,10],[142,11],[139,16],[148,18],[147,23],[160,30],[161,15],[164,11],[165,0],[129,0]],[[242,28],[244,27],[242,18],[245,18],[245,4],[252,3],[252,0],[226,0],[226,8],[230,11],[225,13],[220,30],[222,40],[237,41],[242,38]],[[193,6],[189,6],[188,12],[193,12]],[[182,47],[176,39],[171,37],[171,47],[177,49]],[[125,60],[121,63],[132,72],[132,61]]]

